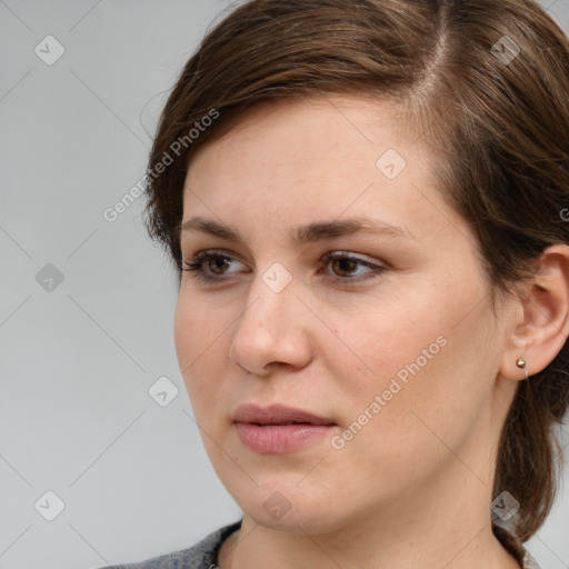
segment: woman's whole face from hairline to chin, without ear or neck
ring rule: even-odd
[[[218,257],[182,274],[179,363],[218,476],[264,526],[491,500],[506,321],[401,124],[385,102],[272,103],[191,162],[182,254]]]

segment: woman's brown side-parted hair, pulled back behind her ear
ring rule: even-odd
[[[531,277],[548,246],[569,242],[569,41],[537,3],[254,0],[187,62],[150,154],[147,227],[178,269],[196,149],[261,100],[325,92],[406,103],[418,119],[409,124],[439,157],[437,187],[476,230],[492,298]],[[196,136],[200,126],[208,128]],[[556,498],[562,450],[553,427],[569,406],[568,378],[569,342],[519,383],[503,426],[492,496],[507,490],[520,502],[520,541]]]

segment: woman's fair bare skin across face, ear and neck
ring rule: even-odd
[[[243,510],[221,569],[269,559],[274,569],[518,568],[491,532],[495,455],[525,378],[517,358],[535,373],[569,333],[567,247],[545,256],[539,287],[500,298],[495,313],[475,233],[436,190],[433,157],[401,124],[395,103],[359,98],[261,104],[192,159],[183,220],[224,222],[246,240],[182,234],[188,261],[212,248],[233,259],[206,263],[213,283],[183,272],[174,326],[208,456]],[[407,161],[392,180],[376,167],[387,149]],[[289,237],[358,216],[415,239]],[[329,251],[388,270],[325,264]],[[262,280],[274,262],[292,279],[280,292]],[[236,433],[237,406],[280,402],[329,418],[341,436],[440,337],[438,353],[341,449],[325,437],[258,455]],[[276,491],[290,506],[279,519],[263,508]]]

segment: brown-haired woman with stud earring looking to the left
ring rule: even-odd
[[[569,41],[530,0],[256,0],[148,227],[242,520],[138,568],[539,567],[569,401]],[[124,566],[123,566],[124,567]]]

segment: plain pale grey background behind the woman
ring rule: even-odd
[[[569,0],[545,6],[569,30]],[[144,173],[166,91],[231,9],[0,0],[0,569],[142,560],[239,518],[192,419],[176,276],[143,199],[103,217]],[[48,66],[34,49],[50,34],[64,53]],[[161,377],[179,390],[166,407],[148,392]],[[569,567],[568,478],[528,542],[543,569]],[[48,490],[64,502],[52,521]]]

